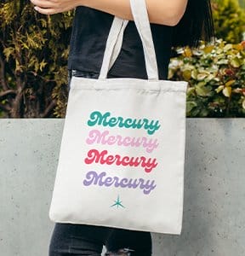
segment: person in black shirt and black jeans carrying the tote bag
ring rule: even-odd
[[[72,76],[98,79],[114,15],[129,22],[123,35],[122,49],[108,78],[147,78],[143,48],[129,0],[31,0],[31,3],[43,15],[76,8],[68,59],[70,81]],[[168,79],[173,46],[196,47],[200,38],[209,41],[214,36],[210,2],[146,0],[146,6],[159,79]],[[49,244],[49,256],[98,256],[101,255],[103,245],[108,250],[105,255],[150,256],[152,253],[150,232],[56,223]]]

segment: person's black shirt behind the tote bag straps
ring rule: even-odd
[[[71,33],[68,69],[100,73],[113,18],[113,15],[96,9],[77,7]],[[168,78],[172,31],[171,26],[151,24],[159,79]],[[123,35],[122,49],[109,74],[122,78],[147,78],[143,48],[134,21],[128,22]]]

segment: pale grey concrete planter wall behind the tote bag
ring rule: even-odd
[[[0,119],[0,247],[47,256],[48,208],[64,119]],[[154,256],[245,255],[245,119],[187,119],[181,236],[152,234]]]

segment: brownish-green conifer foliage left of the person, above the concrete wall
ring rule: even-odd
[[[64,116],[71,20],[71,12],[37,14],[29,0],[0,3],[3,117]]]

